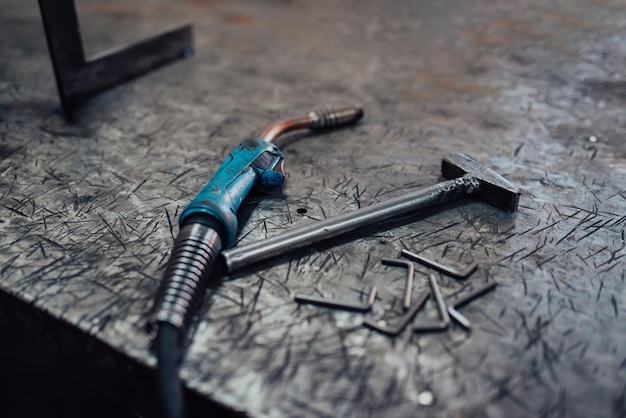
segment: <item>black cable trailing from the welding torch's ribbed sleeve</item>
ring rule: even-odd
[[[183,385],[178,374],[179,350],[178,330],[160,323],[156,337],[157,374],[165,418],[184,418],[185,415]]]

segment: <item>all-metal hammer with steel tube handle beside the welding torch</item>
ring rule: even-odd
[[[221,257],[226,271],[232,273],[287,251],[463,197],[478,196],[500,209],[517,210],[520,190],[500,174],[464,154],[450,154],[444,158],[441,163],[441,174],[451,180],[259,242],[223,251]]]

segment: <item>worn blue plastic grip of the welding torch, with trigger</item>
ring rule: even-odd
[[[222,240],[230,247],[237,235],[237,210],[255,184],[281,186],[283,154],[270,142],[247,139],[228,155],[211,181],[180,215],[179,225],[191,215],[209,216],[223,226]]]

